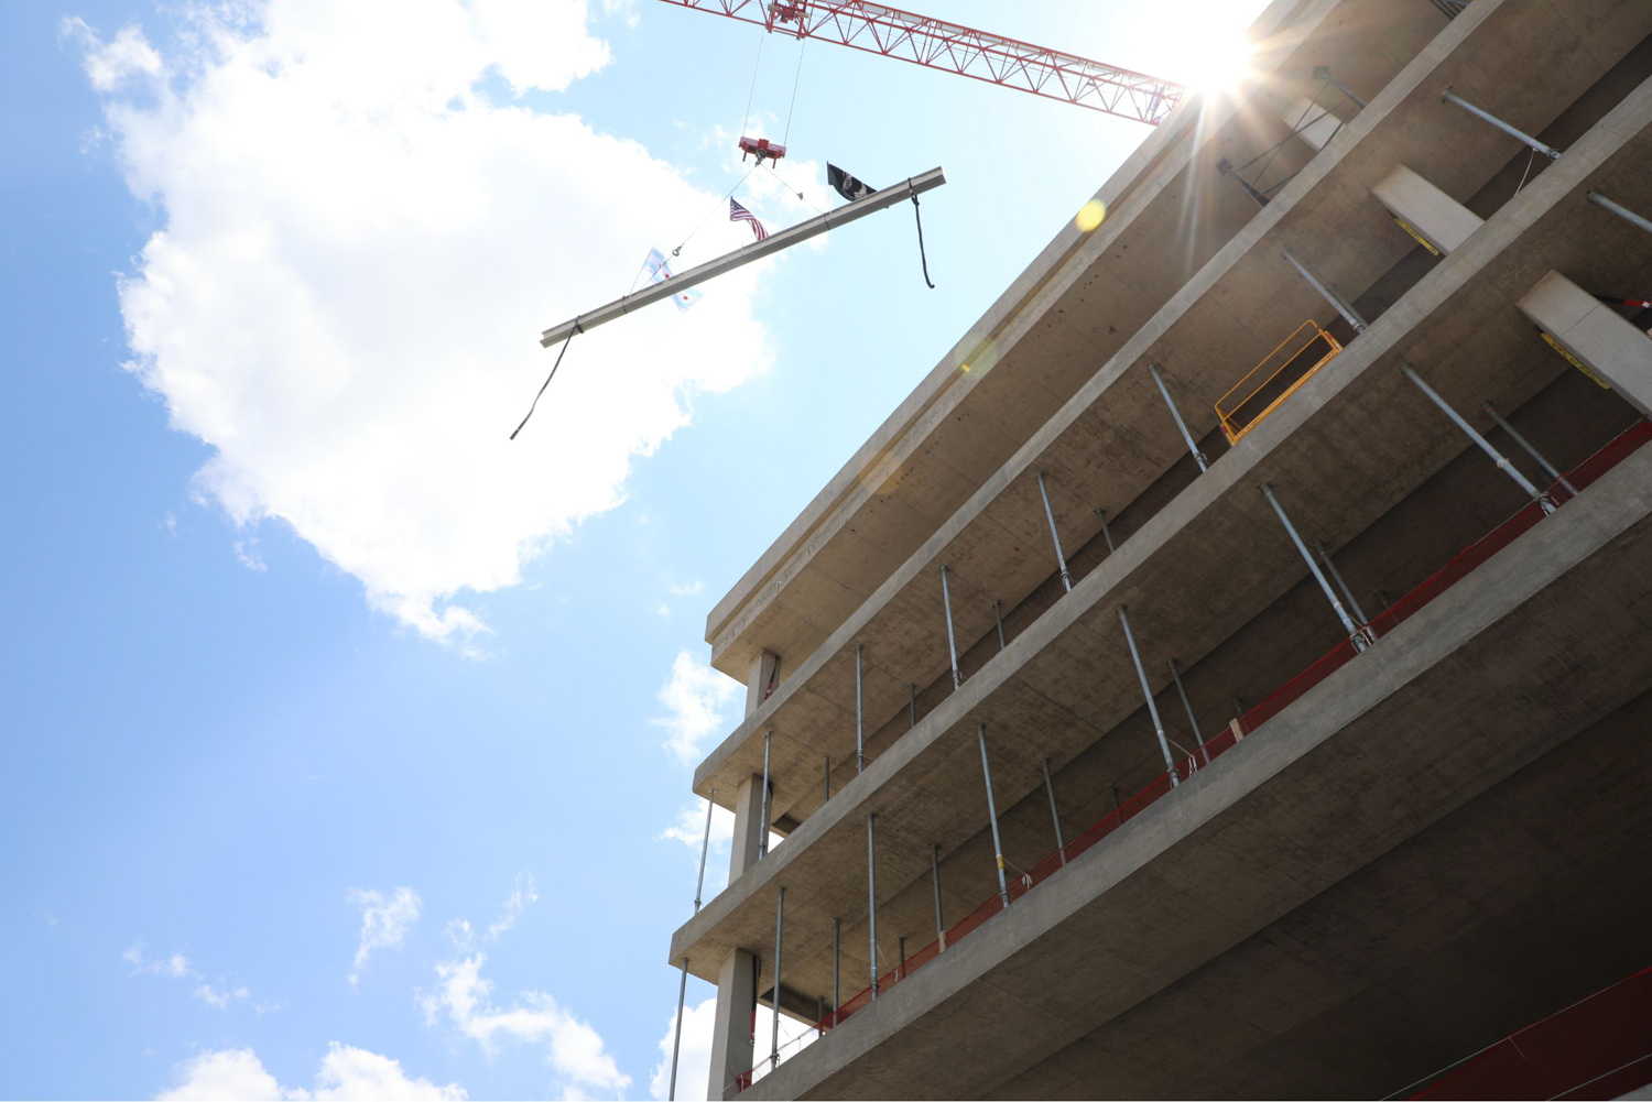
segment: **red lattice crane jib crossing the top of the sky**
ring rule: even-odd
[[[1077,55],[1032,46],[864,0],[662,0],[796,38],[899,58],[930,69],[1158,126],[1186,89]]]

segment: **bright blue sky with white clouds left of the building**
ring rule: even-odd
[[[1196,81],[1260,7],[927,12]],[[705,615],[1146,132],[656,0],[0,7],[0,1095],[664,1097]],[[828,159],[945,165],[933,291],[897,207],[509,439]]]

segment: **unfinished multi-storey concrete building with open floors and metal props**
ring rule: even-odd
[[[1408,1095],[1652,963],[1652,0],[1252,40],[712,611],[710,1097]]]

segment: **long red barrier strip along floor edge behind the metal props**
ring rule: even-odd
[[[1553,497],[1556,504],[1569,501],[1573,494],[1566,491],[1563,482],[1571,482],[1574,489],[1583,491],[1586,486],[1589,486],[1602,474],[1611,471],[1614,466],[1617,466],[1631,454],[1634,454],[1649,439],[1652,439],[1652,421],[1649,420],[1635,421],[1632,426],[1629,426],[1627,431],[1614,438],[1611,443],[1607,443],[1593,456],[1579,463],[1571,471],[1566,471],[1566,474],[1548,489],[1550,497]],[[1520,512],[1517,512],[1515,515],[1508,517],[1500,525],[1492,529],[1487,535],[1457,552],[1457,555],[1450,562],[1436,570],[1422,585],[1419,585],[1417,588],[1411,590],[1403,598],[1394,601],[1386,611],[1383,611],[1381,616],[1376,616],[1371,620],[1371,623],[1365,625],[1365,628],[1368,628],[1371,634],[1376,638],[1388,634],[1401,623],[1404,623],[1409,616],[1412,616],[1416,611],[1419,611],[1422,606],[1426,606],[1429,601],[1432,601],[1436,596],[1439,596],[1452,585],[1460,582],[1464,577],[1472,573],[1487,558],[1490,558],[1492,555],[1495,555],[1497,552],[1503,550],[1512,542],[1515,542],[1515,539],[1518,539],[1523,532],[1536,525],[1536,522],[1541,520],[1543,515],[1545,515],[1543,509],[1536,502],[1531,502],[1530,506],[1526,506],[1525,509],[1521,509]],[[1257,704],[1244,715],[1241,715],[1237,720],[1239,730],[1229,727],[1222,734],[1208,740],[1199,750],[1194,750],[1181,762],[1178,762],[1175,768],[1178,783],[1188,780],[1198,770],[1206,768],[1213,760],[1216,760],[1218,757],[1231,750],[1234,745],[1237,745],[1241,739],[1254,734],[1257,727],[1260,727],[1274,715],[1282,712],[1289,704],[1302,697],[1302,694],[1305,694],[1308,689],[1312,689],[1313,686],[1320,684],[1333,672],[1341,669],[1341,666],[1346,664],[1350,659],[1353,659],[1356,654],[1358,651],[1355,649],[1351,641],[1343,639],[1341,643],[1338,643],[1322,659],[1318,659],[1305,671],[1287,681],[1284,686],[1280,686],[1272,694],[1264,697],[1260,704]],[[1156,803],[1160,798],[1170,795],[1171,791],[1175,791],[1175,785],[1170,780],[1170,773],[1160,775],[1158,780],[1155,780],[1146,788],[1138,791],[1135,796],[1125,801],[1118,810],[1104,818],[1100,823],[1084,831],[1082,834],[1069,841],[1066,846],[1062,846],[1051,856],[1039,861],[1036,866],[1032,866],[1029,872],[1024,872],[1018,876],[1014,881],[1011,881],[1008,884],[1009,900],[1014,902],[1021,895],[1026,895],[1037,884],[1044,882],[1052,872],[1066,866],[1069,861],[1077,857],[1080,853],[1084,853],[1100,839],[1112,834],[1123,823],[1128,823],[1132,818],[1140,815],[1146,806]],[[943,933],[940,938],[920,948],[917,953],[909,957],[905,963],[897,965],[887,975],[879,976],[877,978],[879,995],[889,991],[889,988],[900,983],[914,971],[917,971],[928,962],[940,957],[947,948],[957,945],[960,940],[978,930],[988,919],[991,919],[1003,909],[1004,902],[998,895],[993,895],[991,899],[983,902],[980,907],[965,915],[961,922],[947,930],[947,933]],[[843,1024],[844,1019],[847,1019],[856,1011],[864,1009],[871,1003],[872,1003],[872,988],[867,986],[854,998],[843,1003],[836,1011],[826,1014],[818,1023],[814,1023],[816,1033],[824,1034],[828,1029]],[[752,1069],[750,1072],[738,1076],[737,1085],[740,1090],[745,1090],[748,1085],[752,1085],[752,1076],[755,1071],[758,1069]],[[1470,1095],[1460,1095],[1460,1097],[1470,1097]]]

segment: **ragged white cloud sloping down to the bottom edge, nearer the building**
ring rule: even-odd
[[[550,995],[524,991],[509,1009],[492,1005],[492,981],[481,975],[486,953],[436,965],[441,986],[420,996],[425,1021],[431,1026],[446,1014],[448,1023],[492,1056],[501,1041],[545,1044],[550,1066],[572,1081],[598,1090],[624,1090],[631,1077],[620,1072],[603,1038],[588,1023],[557,1005]]]

